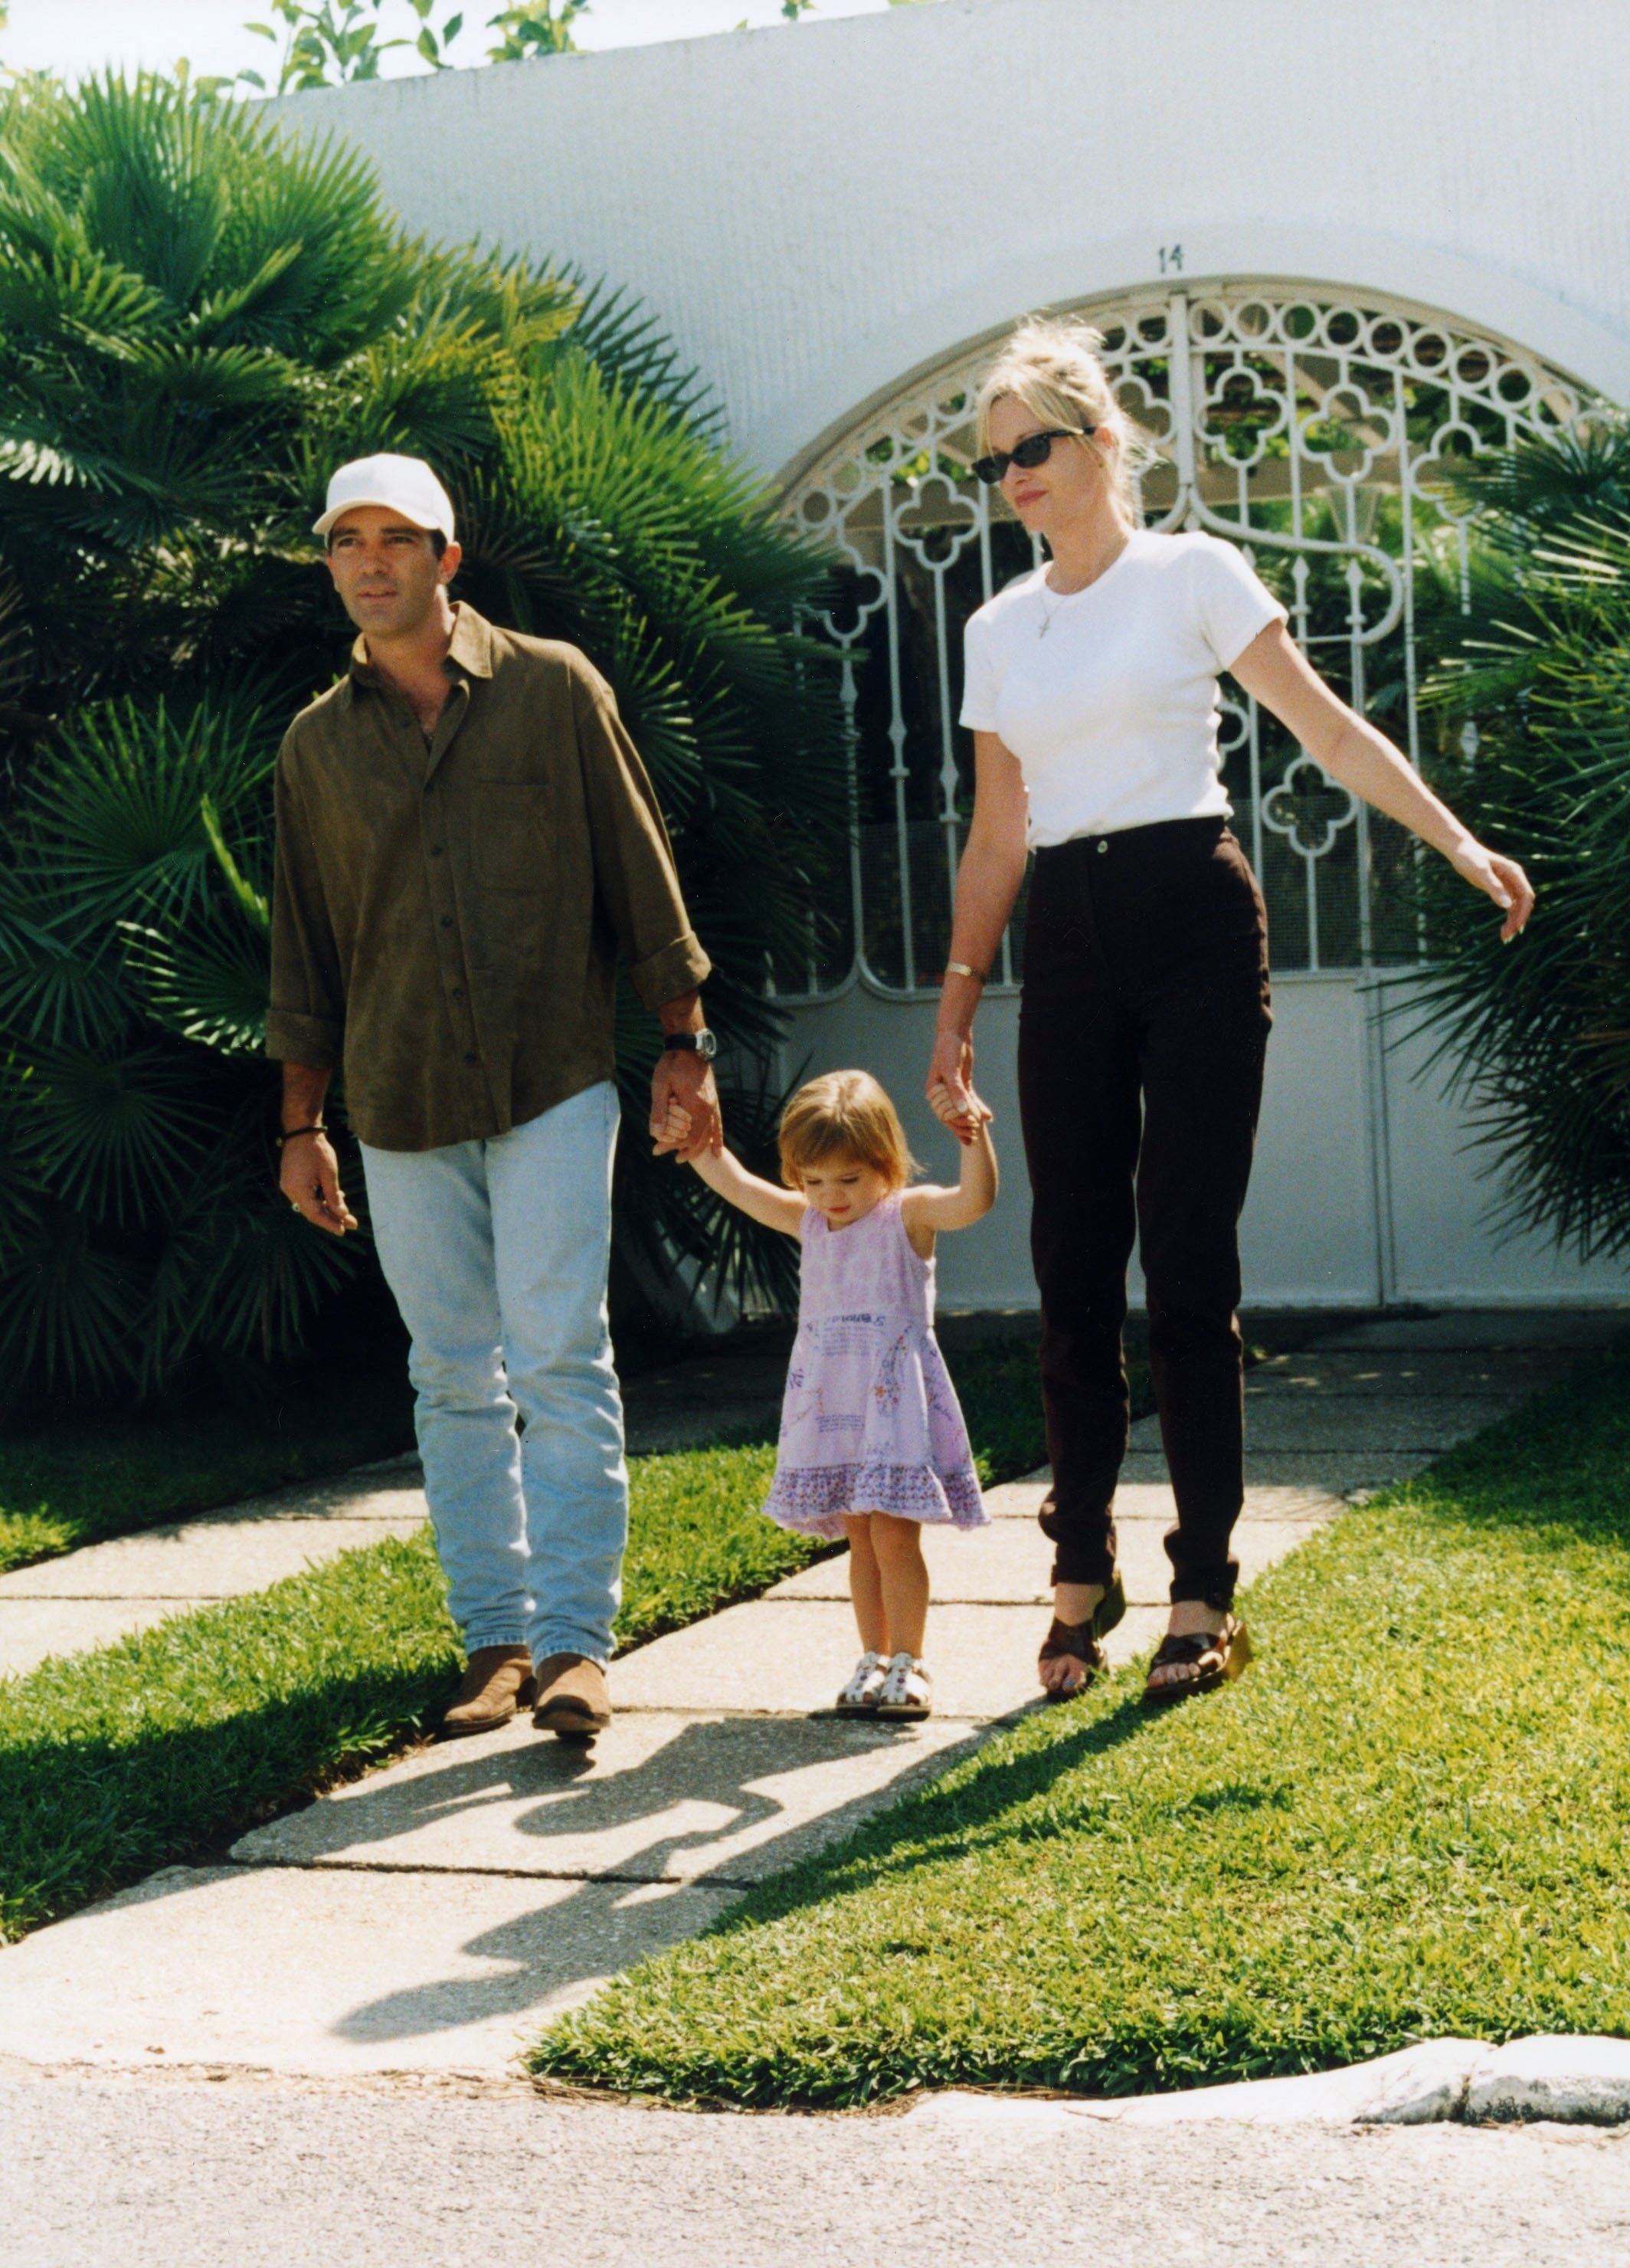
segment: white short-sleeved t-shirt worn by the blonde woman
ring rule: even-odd
[[[968,619],[961,721],[1029,789],[1032,848],[1161,819],[1226,819],[1217,671],[1285,610],[1233,544],[1138,528],[1059,596],[1020,576]]]

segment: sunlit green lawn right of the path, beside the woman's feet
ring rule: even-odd
[[[1260,1662],[1025,1719],[533,2062],[735,2105],[1127,2093],[1630,2032],[1630,1354],[1249,1597]]]

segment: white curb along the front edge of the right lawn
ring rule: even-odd
[[[1063,2096],[925,2096],[907,2118],[923,2125],[1560,2125],[1630,2123],[1630,2039],[1544,2032],[1492,2048],[1483,2039],[1426,2039],[1369,2064],[1288,2080],[1240,2080],[1163,2096],[1068,2100]]]

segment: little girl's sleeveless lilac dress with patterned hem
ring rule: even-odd
[[[841,1538],[841,1513],[986,1526],[968,1427],[934,1338],[934,1261],[911,1250],[900,1191],[830,1229],[803,1218],[798,1338],[764,1510]]]

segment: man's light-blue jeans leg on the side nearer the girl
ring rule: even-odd
[[[533,1662],[605,1662],[621,1599],[628,1465],[605,1320],[614,1148],[610,1082],[485,1145],[503,1352],[526,1427]]]

